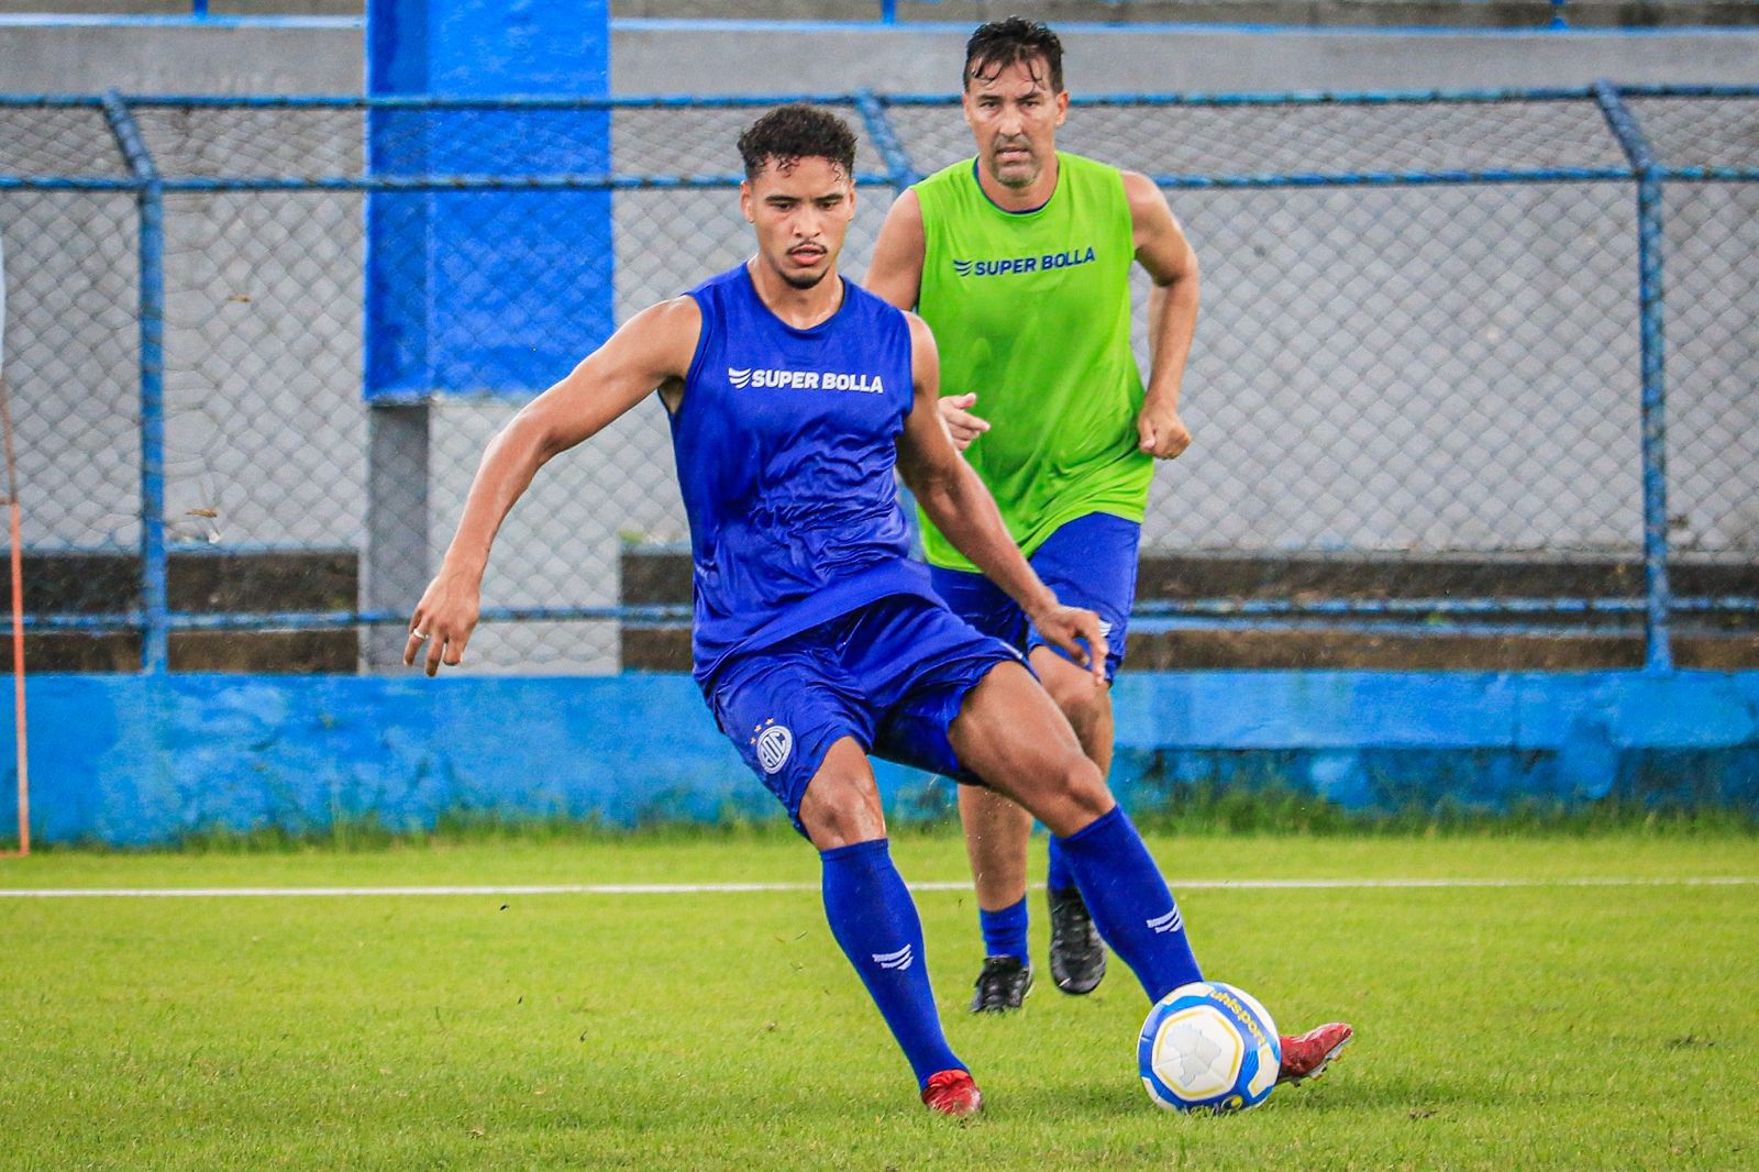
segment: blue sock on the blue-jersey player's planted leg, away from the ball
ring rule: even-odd
[[[825,919],[843,954],[897,1038],[916,1086],[941,1070],[966,1070],[941,1031],[941,1014],[922,957],[922,919],[892,866],[887,839],[820,852]]]

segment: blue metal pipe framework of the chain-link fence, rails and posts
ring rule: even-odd
[[[1664,183],[1754,183],[1754,165],[1671,165],[1655,158],[1643,136],[1641,118],[1627,99],[1759,99],[1759,86],[1613,86],[1536,90],[1427,90],[1427,92],[1340,92],[1340,93],[1224,93],[1177,95],[1131,93],[1078,97],[1092,107],[1323,107],[1323,106],[1425,106],[1497,102],[1594,102],[1609,134],[1624,150],[1622,165],[1595,167],[1483,167],[1416,171],[1337,171],[1281,174],[1156,174],[1166,188],[1321,188],[1321,187],[1430,187],[1511,183],[1632,183],[1638,188],[1639,329],[1643,336],[1643,487],[1645,487],[1645,593],[1641,598],[1194,598],[1143,602],[1135,616],[1156,628],[1240,626],[1274,630],[1312,626],[1372,630],[1379,634],[1599,634],[1641,628],[1648,644],[1648,667],[1668,670],[1669,623],[1675,616],[1729,618],[1759,614],[1759,598],[1673,597],[1668,586],[1666,461],[1662,414],[1666,403],[1660,285],[1660,185]],[[164,670],[171,632],[193,630],[336,630],[403,625],[406,614],[385,611],[274,611],[193,614],[167,604],[167,551],[164,530],[164,241],[165,194],[186,192],[473,192],[473,190],[725,190],[741,174],[318,174],[318,176],[186,176],[160,174],[146,137],[134,120],[139,109],[357,109],[357,111],[639,111],[639,109],[756,109],[783,102],[813,102],[851,107],[878,148],[885,172],[860,172],[864,187],[902,188],[916,171],[901,144],[888,109],[950,107],[952,95],[774,93],[726,97],[623,95],[623,97],[507,97],[507,99],[412,99],[412,97],[186,97],[109,93],[104,97],[0,95],[0,109],[90,109],[100,114],[121,155],[118,171],[127,174],[0,174],[0,192],[127,192],[141,208],[139,220],[139,329],[141,329],[141,607],[106,614],[33,614],[26,630],[116,632],[142,635],[142,665]],[[690,619],[682,605],[640,607],[493,607],[485,621],[623,621],[631,625],[675,625]],[[1492,619],[1500,619],[1492,621]],[[1639,626],[1641,625],[1641,626]]]

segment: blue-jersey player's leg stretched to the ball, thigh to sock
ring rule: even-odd
[[[1149,1000],[1201,978],[1154,857],[1031,672],[1018,663],[992,669],[966,695],[948,741],[967,769],[1062,839],[1099,933]]]

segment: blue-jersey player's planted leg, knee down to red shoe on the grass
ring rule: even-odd
[[[983,1096],[941,1031],[922,956],[922,919],[892,864],[872,767],[851,737],[825,751],[800,797],[799,818],[820,852],[830,934],[904,1051],[922,1100],[950,1116],[978,1110]]]

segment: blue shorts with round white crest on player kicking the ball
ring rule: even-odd
[[[946,730],[997,663],[1024,658],[931,598],[894,595],[726,660],[709,709],[806,834],[800,799],[841,737],[901,765],[962,774]]]

